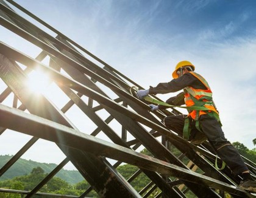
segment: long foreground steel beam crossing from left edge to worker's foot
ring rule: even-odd
[[[0,125],[14,131],[35,135],[45,140],[65,145],[66,148],[74,148],[77,151],[86,151],[93,155],[110,157],[140,168],[148,169],[149,171],[157,171],[160,174],[175,176],[188,182],[197,183],[197,185],[206,185],[221,189],[241,197],[254,197],[242,189],[212,179],[212,177],[203,176],[202,174],[180,168],[179,166],[155,159],[154,157],[137,153],[131,149],[105,142],[104,140],[76,131],[68,126],[60,125],[54,121],[27,114],[18,109],[3,106],[2,104],[0,104]],[[76,142],[74,142],[74,139],[76,139]],[[91,154],[88,156],[92,156]]]

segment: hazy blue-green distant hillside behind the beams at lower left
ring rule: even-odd
[[[0,155],[0,169],[5,165],[10,159],[12,155]],[[19,159],[5,174],[0,177],[1,180],[12,179],[17,176],[24,176],[30,174],[33,168],[40,166],[44,172],[51,172],[57,165],[54,163],[40,163],[34,162],[32,160],[24,160]],[[84,180],[84,178],[80,175],[78,171],[68,171],[65,169],[61,169],[57,174],[57,177],[65,180],[70,184],[75,184]]]

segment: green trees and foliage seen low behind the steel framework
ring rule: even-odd
[[[233,143],[236,149],[244,155],[249,160],[252,160],[252,162],[256,161],[256,149],[248,149],[246,146],[244,146],[242,143],[235,142]],[[182,153],[175,148],[174,146],[170,146],[169,150],[172,152],[172,154],[176,155],[179,157]],[[153,157],[153,155],[147,150],[143,149],[141,153],[149,155]],[[10,159],[9,155],[4,155],[0,156],[0,167],[1,163],[8,162]],[[190,160],[187,159],[187,157],[182,158],[183,163],[187,164]],[[3,163],[3,164],[4,164]],[[28,164],[34,164],[34,166],[28,165]],[[35,166],[35,165],[42,165],[42,166]],[[48,166],[47,166],[48,165]],[[30,167],[30,172],[27,172],[27,169],[24,168],[23,166],[29,166]],[[55,168],[56,165],[53,166],[53,164],[45,164],[45,163],[34,163],[33,161],[28,161],[28,160],[23,160],[20,159],[20,162],[12,171],[17,171],[17,172],[23,172],[23,176],[15,176],[12,179],[6,179],[0,181],[0,188],[6,188],[6,189],[19,189],[19,190],[24,190],[24,191],[30,191],[35,188],[35,186],[38,185],[47,175],[48,172],[51,171],[51,168]],[[47,167],[47,168],[46,168]],[[24,171],[26,169],[26,171]],[[17,172],[12,172],[10,171],[10,175],[15,175]],[[65,170],[62,170],[65,171]],[[132,166],[128,164],[124,164],[121,166],[118,166],[117,171],[127,180],[129,179],[135,172],[138,171],[137,166]],[[24,174],[26,172],[26,174]],[[70,175],[69,172],[65,172],[70,177],[74,177],[80,174],[78,171],[72,171],[74,175]],[[200,172],[200,169],[197,169],[196,172]],[[80,176],[81,177],[81,176]],[[67,177],[65,177],[67,178]],[[171,178],[171,177],[170,177]],[[77,180],[74,178],[74,180]],[[136,191],[140,192],[141,189],[143,189],[145,186],[147,186],[151,180],[143,173],[140,172],[138,177],[136,177],[132,182],[130,182],[130,185],[135,188]],[[68,183],[66,180],[61,179],[60,177],[53,177],[51,180],[49,180],[46,185],[43,186],[43,188],[40,189],[40,192],[42,193],[53,193],[53,194],[69,194],[69,195],[74,195],[74,196],[80,196],[82,193],[84,193],[88,188],[90,188],[90,184],[86,181],[81,179],[80,181],[76,183]],[[156,188],[153,193],[151,193],[150,196],[148,197],[155,197],[158,193],[160,193],[161,190]],[[145,194],[145,193],[144,193]],[[144,196],[144,194],[142,196]],[[91,190],[89,194],[87,194],[88,197],[99,197],[98,194],[94,191]],[[195,197],[191,191],[187,191],[186,193],[187,197]],[[6,197],[6,198],[20,198],[22,197],[19,194],[12,194],[12,193],[0,193],[0,197]],[[230,197],[229,194],[225,194],[225,197]]]

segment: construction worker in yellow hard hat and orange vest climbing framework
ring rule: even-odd
[[[165,117],[163,122],[166,127],[194,144],[208,139],[216,154],[229,166],[232,173],[243,178],[239,187],[256,193],[256,182],[249,169],[236,148],[227,141],[221,129],[219,113],[212,100],[212,90],[207,81],[194,72],[194,69],[190,61],[180,61],[172,73],[173,80],[168,83],[159,83],[156,87],[150,86],[147,90],[138,90],[137,97],[142,99],[148,94],[167,94],[183,89],[183,92],[169,98],[166,103],[179,106],[186,104],[188,115]],[[168,108],[168,106],[154,104],[149,106],[151,111]]]

